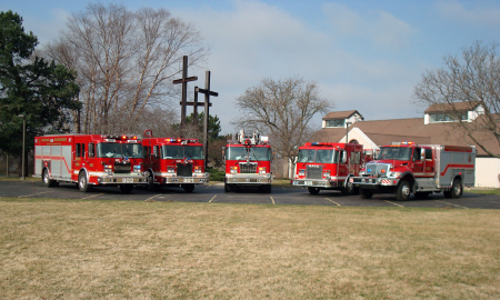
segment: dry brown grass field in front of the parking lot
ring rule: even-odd
[[[492,299],[497,210],[0,198],[2,299]]]

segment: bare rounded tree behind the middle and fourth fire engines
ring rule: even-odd
[[[269,134],[274,151],[289,162],[314,131],[309,123],[318,112],[327,112],[333,103],[319,96],[316,82],[302,78],[263,79],[237,99],[241,112],[231,123]]]

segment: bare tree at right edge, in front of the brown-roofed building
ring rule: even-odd
[[[427,70],[413,91],[417,103],[440,109],[454,120],[454,127],[463,130],[489,156],[500,146],[500,60],[498,43],[483,46],[477,41],[463,48],[462,56],[443,58],[443,68]],[[473,121],[463,118],[464,109],[480,106],[484,112]],[[487,139],[479,139],[484,137]],[[487,147],[484,140],[497,141]]]

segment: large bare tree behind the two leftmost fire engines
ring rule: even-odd
[[[103,133],[130,132],[147,108],[168,109],[182,56],[199,64],[208,49],[192,24],[164,9],[97,3],[72,14],[46,53],[78,72],[83,132]]]

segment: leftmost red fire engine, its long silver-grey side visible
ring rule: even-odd
[[[142,147],[134,136],[59,134],[34,138],[34,177],[47,187],[74,182],[82,192],[118,186],[131,192],[146,184]]]

